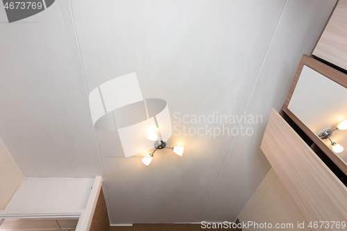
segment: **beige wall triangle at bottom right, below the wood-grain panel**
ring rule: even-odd
[[[311,230],[307,228],[307,221],[289,191],[282,181],[271,169],[260,186],[249,200],[244,210],[239,215],[240,223],[253,221],[254,223],[293,223],[294,229],[298,222],[305,222],[305,228],[301,230]],[[264,230],[250,227],[247,230]]]

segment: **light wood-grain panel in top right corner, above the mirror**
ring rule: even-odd
[[[347,0],[339,0],[313,55],[347,70]]]

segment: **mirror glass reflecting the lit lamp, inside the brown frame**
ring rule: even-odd
[[[325,133],[326,139],[322,141],[332,151],[335,150],[341,160],[347,162],[347,130],[335,130],[339,123],[347,119],[345,87],[304,65],[288,109],[317,136],[324,131],[334,130]],[[332,145],[330,139],[336,144]],[[341,151],[337,144],[344,150]]]

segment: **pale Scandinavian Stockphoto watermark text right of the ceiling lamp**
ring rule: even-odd
[[[205,115],[188,115],[174,113],[174,135],[212,136],[214,139],[224,135],[251,136],[254,133],[252,125],[262,123],[262,115],[242,114],[226,115],[212,112]]]

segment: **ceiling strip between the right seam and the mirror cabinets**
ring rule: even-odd
[[[235,221],[269,171],[271,166],[260,150],[260,143],[271,108],[278,111],[282,108],[301,56],[312,52],[335,3],[335,0],[285,2],[244,108],[244,113],[262,115],[264,121],[251,125],[254,135],[237,136],[232,140],[205,220]]]

